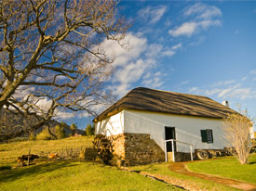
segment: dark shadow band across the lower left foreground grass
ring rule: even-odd
[[[5,171],[0,173],[0,183],[12,182],[22,178],[23,176],[33,176],[41,173],[53,172],[61,168],[74,166],[77,166],[77,164],[74,164],[74,162],[72,161],[60,161],[48,162],[30,167],[23,167],[11,171]]]

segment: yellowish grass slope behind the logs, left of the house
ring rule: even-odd
[[[85,146],[92,146],[94,136],[69,137],[61,140],[49,141],[23,141],[0,144],[0,167],[4,165],[16,165],[17,158],[26,155],[31,149],[32,154],[47,156],[48,153],[61,152],[62,149],[80,149]]]

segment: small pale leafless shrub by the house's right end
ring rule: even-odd
[[[230,114],[223,120],[225,138],[230,142],[231,152],[240,161],[246,164],[249,161],[250,149],[253,147],[251,129],[253,123],[248,115]]]

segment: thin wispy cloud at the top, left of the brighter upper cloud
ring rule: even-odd
[[[142,18],[144,21],[154,24],[163,17],[166,11],[167,6],[147,6],[138,12],[138,17]]]

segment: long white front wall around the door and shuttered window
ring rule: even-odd
[[[165,127],[175,127],[176,139],[193,144],[194,148],[222,149],[227,146],[218,119],[172,115],[145,111],[124,110],[125,133],[151,134],[164,149]],[[213,143],[202,143],[200,130],[211,129]],[[178,151],[189,152],[189,146],[177,144]]]

